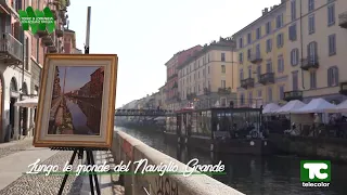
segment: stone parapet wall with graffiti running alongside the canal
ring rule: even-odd
[[[137,161],[146,158],[149,165],[178,166],[178,171],[184,171],[185,165],[171,158],[143,142],[120,131],[115,131],[112,145],[113,156],[116,164],[124,161]],[[130,164],[130,171],[134,171],[136,166]],[[205,174],[145,174],[145,176],[124,176],[123,178],[127,195],[241,195],[243,193],[210,178]]]

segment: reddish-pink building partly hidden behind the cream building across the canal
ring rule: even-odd
[[[177,67],[184,63],[188,56],[194,52],[202,50],[201,46],[195,46],[191,49],[183,50],[176,53],[167,63],[166,66],[166,104],[169,109],[176,109],[179,107],[179,94],[178,94],[178,69]]]

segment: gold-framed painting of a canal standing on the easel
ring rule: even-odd
[[[36,147],[111,148],[117,84],[115,54],[47,54]]]

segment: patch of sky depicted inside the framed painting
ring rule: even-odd
[[[59,68],[59,78],[60,83],[63,90],[64,86],[64,74],[65,67]],[[78,90],[83,87],[87,82],[90,81],[90,75],[94,73],[100,67],[66,67],[66,77],[65,77],[65,93],[70,92],[73,90]]]

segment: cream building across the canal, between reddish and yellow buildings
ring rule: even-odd
[[[220,38],[178,66],[180,107],[227,106],[235,101],[237,64],[234,41]]]

